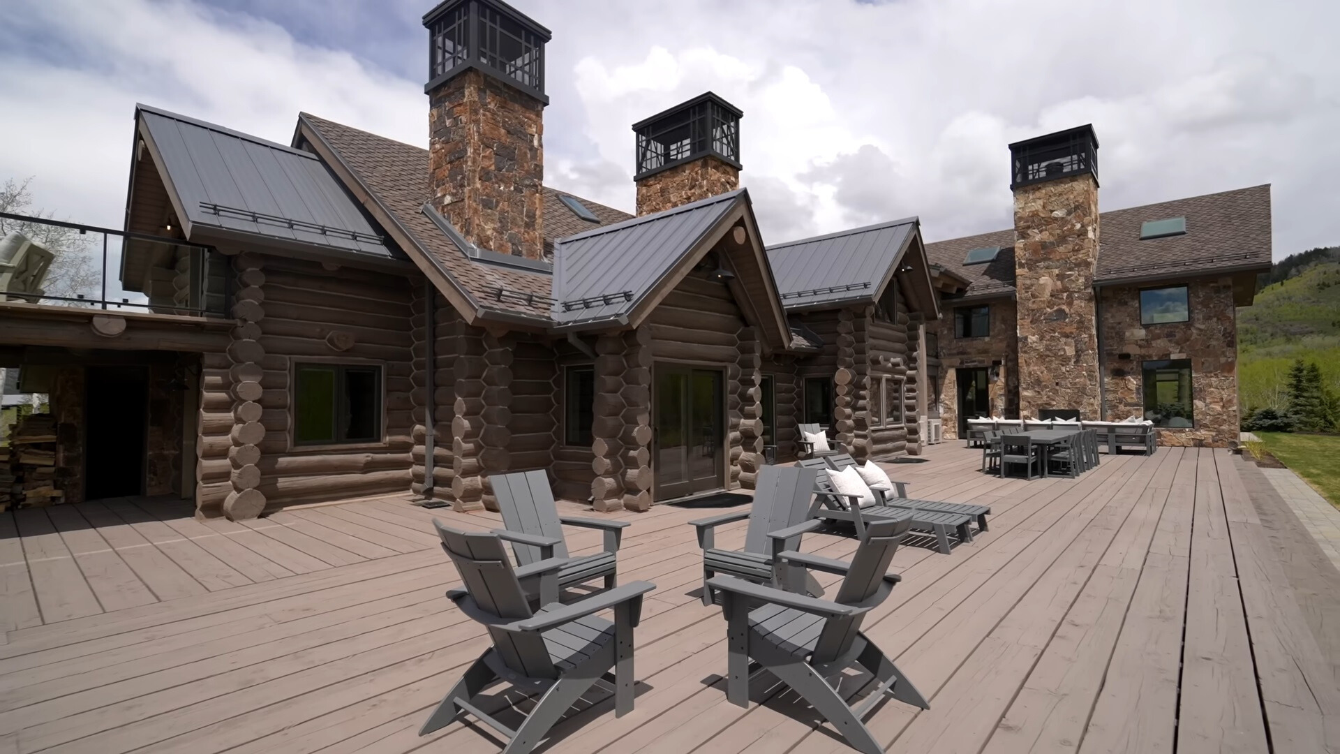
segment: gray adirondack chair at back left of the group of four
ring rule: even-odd
[[[489,476],[493,495],[503,513],[504,529],[494,533],[512,543],[517,565],[525,566],[548,558],[563,558],[565,562],[557,573],[557,589],[604,578],[606,589],[618,584],[619,541],[626,521],[603,521],[559,515],[559,504],[549,490],[549,479],[544,471],[524,471]],[[599,529],[604,531],[604,549],[590,555],[572,557],[563,538],[563,525]],[[540,602],[552,602],[557,593],[532,594]]]

